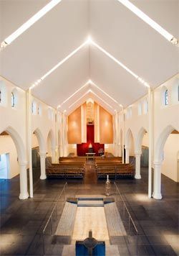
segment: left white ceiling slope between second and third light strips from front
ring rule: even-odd
[[[32,90],[34,96],[57,107],[89,79],[89,47],[86,45]],[[75,96],[68,104],[75,100]]]

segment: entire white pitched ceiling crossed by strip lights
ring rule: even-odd
[[[178,0],[131,2],[179,37]],[[47,3],[47,0],[0,1],[1,42]],[[89,35],[153,88],[178,73],[178,48],[119,1],[62,0],[1,50],[1,76],[26,90]],[[103,91],[90,83],[84,86],[89,79]],[[85,45],[34,87],[32,93],[54,107],[75,93],[62,104],[61,109],[69,111],[91,96],[110,111],[120,108],[120,104],[132,104],[147,93],[147,88],[95,45]]]

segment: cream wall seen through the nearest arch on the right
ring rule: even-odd
[[[172,180],[178,180],[179,134],[170,134],[164,147],[162,173]]]

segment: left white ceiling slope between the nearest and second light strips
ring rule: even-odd
[[[87,1],[62,1],[1,52],[2,76],[26,89],[86,38]]]

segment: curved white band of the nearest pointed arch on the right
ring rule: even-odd
[[[157,142],[155,143],[155,162],[161,162],[163,158],[163,148],[165,142],[168,139],[170,133],[175,129],[172,125],[168,125],[163,129],[163,132],[160,133]],[[176,129],[177,130],[177,129]]]

